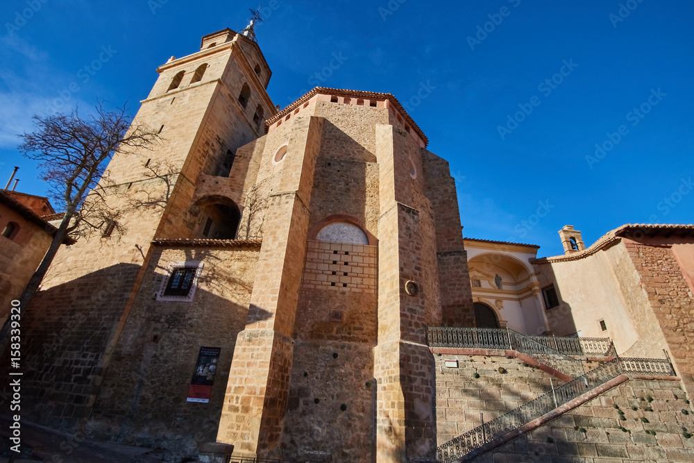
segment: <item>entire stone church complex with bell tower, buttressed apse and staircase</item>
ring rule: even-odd
[[[24,418],[172,462],[693,461],[694,226],[464,238],[393,95],[278,110],[252,24],[157,72],[162,142],[108,166],[126,232],[24,315]]]

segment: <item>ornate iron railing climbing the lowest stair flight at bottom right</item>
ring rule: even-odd
[[[507,433],[525,426],[530,421],[538,419],[560,405],[564,405],[623,373],[675,376],[672,364],[666,359],[616,357],[510,412],[502,414],[497,419],[477,426],[464,435],[446,442],[436,449],[436,459],[441,463],[449,463],[482,448],[482,446],[493,448],[495,441],[502,444],[502,437]]]

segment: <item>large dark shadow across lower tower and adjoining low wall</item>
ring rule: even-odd
[[[178,458],[216,440],[236,336],[248,315],[248,305],[234,300],[250,294],[253,280],[235,276],[209,250],[187,250],[185,260],[205,262],[194,301],[156,301],[162,251],[154,251],[108,371],[104,352],[141,267],[113,265],[37,294],[22,314],[23,419],[74,432],[90,416],[87,437],[166,448]],[[271,314],[262,310],[261,317]],[[210,402],[187,402],[201,346],[221,348]]]

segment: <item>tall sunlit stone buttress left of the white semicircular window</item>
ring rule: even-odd
[[[320,148],[322,120],[298,117],[289,127],[278,190],[269,199],[241,351],[232,361],[218,439],[239,453],[276,455],[287,407],[294,322],[305,262],[310,188]],[[266,144],[267,150],[271,149]],[[257,365],[257,368],[254,368]],[[248,371],[254,371],[248,376]],[[242,378],[242,382],[239,382]],[[246,407],[245,409],[243,407]]]

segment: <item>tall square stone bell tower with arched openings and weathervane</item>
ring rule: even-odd
[[[36,371],[66,365],[60,374],[51,369],[26,375],[26,390],[45,397],[63,391],[82,405],[46,413],[40,398],[33,398],[37,405],[26,413],[31,419],[76,429],[90,416],[142,286],[153,239],[235,237],[237,225],[225,217],[238,223],[237,183],[243,182],[229,178],[231,166],[239,146],[264,135],[265,119],[276,113],[266,92],[271,71],[252,38],[226,28],[205,35],[194,53],[158,67],[133,126],[155,128],[161,140],[150,149],[115,153],[102,179],[106,205],[119,212],[124,233],[101,230],[61,249],[28,310],[35,319],[27,319],[22,333],[34,346],[26,360]],[[47,326],[69,330],[56,337],[46,334]],[[56,347],[46,348],[53,338]],[[71,359],[87,356],[100,368],[85,375]],[[78,376],[79,385],[65,379]]]

